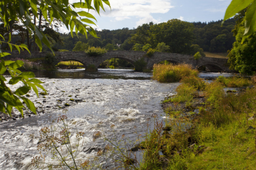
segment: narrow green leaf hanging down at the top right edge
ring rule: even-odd
[[[244,36],[242,43],[246,37],[249,37],[256,30],[256,0],[248,7],[245,14],[245,24],[244,24]]]

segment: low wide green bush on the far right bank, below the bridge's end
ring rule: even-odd
[[[216,80],[216,82],[222,83],[224,86],[229,88],[239,88],[239,87],[247,87],[253,84],[252,81],[243,77],[224,77],[220,76]]]

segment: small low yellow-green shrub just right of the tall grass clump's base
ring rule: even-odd
[[[201,79],[197,76],[184,77],[183,79],[181,79],[181,83],[191,85],[198,90],[204,90],[204,88],[206,87],[204,79]]]

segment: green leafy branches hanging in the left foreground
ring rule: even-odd
[[[108,0],[103,0],[103,2],[110,6]],[[86,8],[88,10],[95,10],[98,13],[100,8],[104,10],[102,0],[93,1],[95,8],[93,8],[91,4],[92,2],[90,0],[85,0],[84,3],[80,2],[73,4],[69,3],[69,0],[41,0],[39,8],[41,9],[42,13],[41,16],[39,14],[39,17],[43,16],[49,24],[52,23],[53,19],[63,22],[68,29],[70,28],[71,35],[73,34],[73,30],[75,29],[76,34],[80,32],[81,34],[87,35],[87,32],[89,32],[92,36],[97,37],[96,31],[94,31],[94,29],[91,26],[85,25],[82,22],[91,24],[95,23],[87,18],[80,18],[89,17],[95,19],[95,17],[93,17],[92,14],[85,11],[76,12],[73,10],[75,8]],[[31,20],[31,14],[34,15],[34,23]],[[49,17],[47,14],[49,14]],[[44,34],[44,32],[41,31],[40,28],[38,28],[38,26],[36,26],[36,18],[38,18],[38,6],[36,0],[2,0],[0,3],[0,19],[3,21],[4,27],[6,27],[7,30],[10,31],[8,36],[9,39],[7,42],[5,41],[4,37],[0,34],[0,37],[2,37],[3,39],[3,41],[0,42],[7,43],[11,51],[12,45],[14,45],[18,51],[20,51],[20,49],[26,49],[29,51],[28,46],[25,44],[15,45],[10,43],[12,41],[13,23],[15,23],[15,21],[18,21],[20,24],[26,27],[27,35],[29,34],[35,37],[34,42],[36,42],[40,50],[42,49],[42,42],[52,50],[46,34]],[[0,50],[0,58],[7,55],[10,54],[2,52]],[[41,88],[45,92],[45,94],[47,94],[43,86],[40,84],[43,82],[41,82],[38,79],[35,79],[34,73],[21,72],[17,69],[20,68],[23,64],[24,62],[20,60],[14,62],[4,61],[2,59],[0,62],[0,111],[8,113],[10,116],[13,107],[20,111],[21,115],[23,116],[23,108],[25,108],[23,102],[32,112],[36,113],[35,105],[29,99],[24,97],[24,95],[27,94],[31,89],[33,89],[33,91],[35,91],[35,93],[38,95],[38,87]],[[7,80],[2,75],[6,71],[8,71],[11,75],[11,79],[8,82],[9,85],[14,85],[18,82],[22,82],[23,86],[17,88],[13,92],[6,85],[5,82],[7,82]],[[21,102],[19,98],[22,99],[23,102]]]

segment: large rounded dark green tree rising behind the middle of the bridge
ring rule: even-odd
[[[155,24],[148,31],[149,42],[153,48],[156,48],[159,42],[164,42],[169,45],[169,52],[189,54],[194,35],[193,28],[192,23],[177,19]]]

